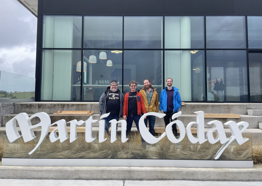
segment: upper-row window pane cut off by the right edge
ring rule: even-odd
[[[262,17],[247,16],[248,48],[262,48]]]

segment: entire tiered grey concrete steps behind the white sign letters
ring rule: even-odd
[[[54,123],[60,119],[65,119],[66,122],[76,119],[77,121],[86,121],[90,115],[53,115],[59,110],[73,111],[73,110],[91,110],[94,111],[92,115],[94,120],[99,120],[99,108],[98,102],[29,102],[29,103],[5,103],[0,105],[1,109],[1,126],[0,131],[5,131],[6,122],[12,119],[19,113],[25,112],[30,116],[38,112],[46,112],[51,118],[51,122]],[[222,114],[239,114],[240,118],[204,118],[206,132],[212,128],[212,125],[206,123],[219,120],[222,123],[227,121],[246,121],[249,123],[248,129],[245,131],[248,136],[262,137],[262,130],[259,129],[259,125],[262,125],[262,104],[256,103],[185,103],[180,108],[182,115],[178,117],[178,120],[182,121],[187,126],[188,123],[196,121],[196,111],[204,111],[204,113],[222,113]],[[248,114],[248,115],[247,115]],[[123,119],[123,118],[120,118]],[[39,122],[38,118],[31,120],[32,124]],[[69,125],[68,125],[69,126]],[[84,126],[84,124],[83,124]],[[121,124],[118,125],[120,127]],[[18,125],[17,125],[18,127]],[[99,123],[93,123],[93,131],[98,132]],[[164,127],[163,118],[156,118],[155,127]],[[196,127],[196,126],[192,126]],[[231,136],[229,128],[224,125],[227,136]],[[261,127],[260,127],[261,128]],[[132,130],[136,130],[133,123]]]

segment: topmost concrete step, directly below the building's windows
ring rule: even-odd
[[[15,114],[25,112],[37,113],[46,112],[48,114],[63,111],[85,111],[91,110],[95,114],[99,114],[98,102],[29,102],[15,103]],[[221,114],[247,114],[246,103],[185,103],[180,108],[182,114],[194,114],[196,111],[204,111],[205,113],[221,113]],[[262,115],[262,114],[261,114]]]

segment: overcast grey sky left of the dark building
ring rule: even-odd
[[[0,70],[35,77],[37,18],[17,0],[0,4]]]

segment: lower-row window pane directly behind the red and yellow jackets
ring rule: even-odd
[[[129,82],[137,82],[137,91],[144,87],[144,79],[149,79],[157,88],[158,98],[162,91],[162,51],[127,50],[124,52],[124,92],[130,92]]]

